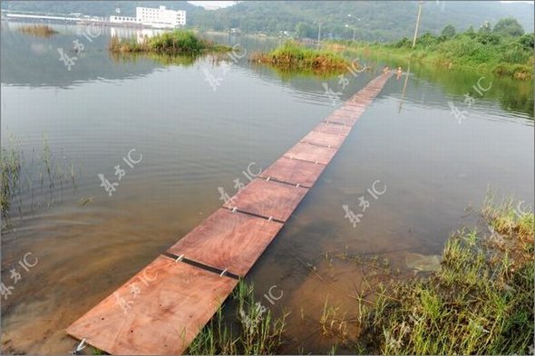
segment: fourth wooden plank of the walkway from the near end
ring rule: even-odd
[[[265,169],[258,177],[273,178],[282,182],[299,184],[302,187],[311,188],[324,169],[325,166],[322,164],[281,157]]]

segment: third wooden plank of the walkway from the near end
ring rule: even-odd
[[[240,211],[267,218],[273,217],[284,222],[307,192],[307,188],[257,178],[246,188],[238,191],[238,194],[225,203],[224,207],[237,207]]]

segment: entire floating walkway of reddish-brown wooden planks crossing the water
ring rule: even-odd
[[[277,236],[390,76],[369,82],[66,332],[112,354],[186,351]]]

